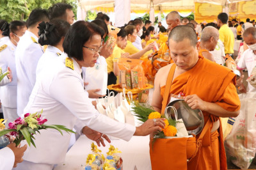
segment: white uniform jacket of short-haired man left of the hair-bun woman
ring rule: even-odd
[[[23,113],[28,104],[29,95],[36,82],[36,66],[43,54],[41,45],[36,35],[30,31],[20,38],[15,52],[16,70],[18,77],[17,84],[17,113]]]

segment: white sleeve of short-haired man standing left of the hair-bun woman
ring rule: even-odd
[[[25,50],[24,54],[26,54],[26,60],[23,61],[22,65],[25,67],[29,83],[33,87],[36,83],[36,66],[44,53],[37,43],[32,43],[28,49]]]

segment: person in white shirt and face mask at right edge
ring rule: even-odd
[[[250,76],[253,67],[256,65],[256,27],[248,27],[243,33],[243,39],[249,49],[244,51],[237,63],[237,69],[240,70],[241,75],[243,75],[243,70],[247,68],[248,76]],[[246,91],[256,92],[256,88],[253,88],[250,83],[248,83],[247,89],[244,88],[243,84],[241,84],[238,89],[243,93],[246,93]]]

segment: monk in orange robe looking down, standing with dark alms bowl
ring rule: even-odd
[[[174,63],[157,72],[152,106],[163,114],[166,80],[169,74],[173,75],[169,100],[180,92],[184,93],[189,107],[200,109],[205,123],[211,123],[196,157],[188,162],[188,169],[227,169],[220,117],[236,117],[239,114],[236,75],[230,69],[198,56],[196,33],[189,26],[173,28],[168,42],[172,47],[170,53]]]

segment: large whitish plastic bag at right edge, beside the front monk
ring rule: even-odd
[[[226,137],[225,148],[233,164],[248,169],[256,153],[256,93],[243,93],[239,98],[240,114],[234,118],[236,121]]]

